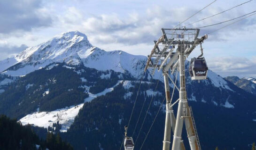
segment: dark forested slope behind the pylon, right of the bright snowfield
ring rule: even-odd
[[[106,96],[101,96],[93,99],[90,103],[85,103],[68,132],[62,134],[63,138],[72,143],[76,150],[85,148],[88,150],[101,150],[101,148],[106,150],[118,150],[124,137],[124,126],[127,125],[129,121],[133,102],[136,98],[136,92],[139,88],[139,83],[134,85],[134,88],[129,89],[129,91],[133,92],[132,97],[129,99],[124,99],[124,94],[127,93],[127,91],[120,84]],[[193,88],[199,88],[197,86],[201,84],[196,85],[197,84],[195,84]],[[156,83],[153,83],[151,89],[154,90],[155,86]],[[190,88],[191,87],[188,88],[188,95],[192,94],[189,90]],[[144,92],[146,90],[148,90],[148,84],[144,83],[141,86],[141,92],[128,130],[128,135],[132,136],[136,120],[140,114],[140,108],[146,98],[146,105],[142,111],[143,113],[138,127],[133,135],[134,142],[138,137],[145,112],[152,98],[147,96]],[[161,106],[164,98],[162,82],[159,83],[157,90],[161,91],[162,95],[153,98],[153,103],[151,104],[144,126],[138,137],[135,150],[140,149],[157,110],[159,106]],[[221,93],[223,91],[218,88],[212,87],[206,90],[211,91],[212,94],[220,93],[225,95],[225,93]],[[237,91],[239,91],[239,89],[237,89]],[[201,99],[202,97],[206,97],[207,94],[209,93],[204,93],[201,97],[195,95],[195,97]],[[177,95],[178,93],[175,94],[174,99],[177,99]],[[246,92],[241,89],[239,93],[234,95],[233,100],[236,102],[236,107],[233,109],[204,102],[188,101],[189,105],[193,108],[195,123],[203,150],[214,150],[216,146],[218,146],[220,150],[231,150],[234,147],[235,150],[248,150],[248,143],[255,141],[256,122],[252,121],[252,118],[256,116],[252,112],[255,110],[255,97],[250,95],[245,98],[244,95],[246,95]],[[206,100],[208,99],[206,98]],[[242,103],[245,105],[251,103],[253,106],[246,108]],[[165,120],[164,106],[164,104],[161,106],[161,113],[159,113],[142,150],[158,150],[162,147]],[[174,111],[177,111],[177,105],[174,107]],[[185,130],[183,131],[183,137],[185,146],[188,149],[189,145]]]

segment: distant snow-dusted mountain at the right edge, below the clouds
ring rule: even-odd
[[[232,82],[239,88],[256,95],[256,79],[254,78],[239,78],[237,76],[227,76],[226,80]]]

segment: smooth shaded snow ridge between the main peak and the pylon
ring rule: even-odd
[[[90,55],[81,60],[85,67],[95,68],[97,70],[112,69],[116,72],[124,73],[129,71],[133,76],[139,77],[143,72],[147,57],[132,55],[123,51],[106,52],[99,48],[94,48]]]

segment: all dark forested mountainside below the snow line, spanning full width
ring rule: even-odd
[[[165,101],[162,105],[164,86],[160,81],[155,90],[158,80],[151,80],[150,83],[148,77],[146,75],[143,78],[128,130],[128,135],[133,135],[134,141],[137,141],[135,150],[140,149],[159,107],[160,113],[142,149],[157,150],[162,147],[165,120]],[[216,75],[217,77],[219,76]],[[115,85],[106,95],[85,102],[66,133],[60,133],[62,125],[58,123],[53,123],[47,128],[56,135],[47,135],[47,129],[32,127],[40,138],[58,141],[61,136],[70,142],[75,150],[119,149],[124,137],[124,126],[129,122],[140,85],[140,81],[128,72],[122,74],[113,70],[99,71],[84,66],[67,66],[64,63],[50,64],[13,81],[15,82],[6,85],[5,91],[0,94],[0,113],[18,119],[34,112],[50,112],[70,105],[83,104],[88,93],[97,94]],[[131,83],[128,89],[124,88],[124,82]],[[219,87],[214,86],[218,82],[221,81],[208,79],[195,82],[189,77],[186,78],[188,103],[193,108],[202,149],[211,150],[218,146],[220,150],[246,150],[248,144],[255,141],[256,97],[228,81],[227,85],[219,83]],[[120,84],[117,85],[118,83]],[[177,99],[178,92],[175,91],[173,100]],[[144,101],[145,105],[134,131]],[[147,118],[141,128],[149,105],[151,106]],[[177,105],[174,106],[175,112],[176,108]],[[188,148],[185,130],[183,137]],[[43,143],[40,144],[44,146]],[[54,143],[49,142],[48,146],[54,147]]]

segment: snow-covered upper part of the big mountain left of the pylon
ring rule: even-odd
[[[65,62],[68,65],[84,64],[98,70],[129,71],[138,77],[146,59],[145,56],[134,56],[123,51],[106,52],[91,45],[85,34],[72,31],[0,61],[0,71],[6,75],[22,76],[53,62]]]

